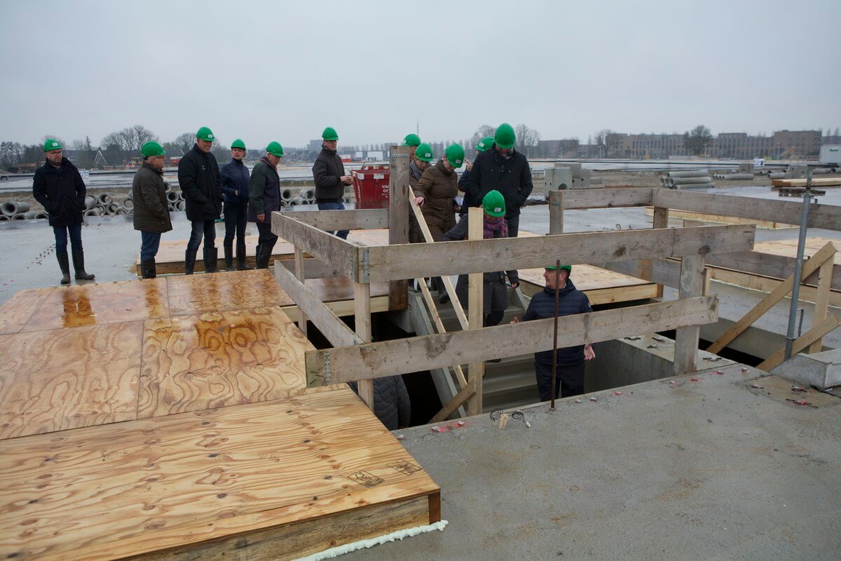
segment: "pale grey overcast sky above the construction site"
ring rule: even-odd
[[[0,3],[0,140],[841,126],[841,2]]]

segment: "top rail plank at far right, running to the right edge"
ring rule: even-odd
[[[739,216],[768,222],[800,224],[802,204],[767,198],[738,197],[721,193],[690,193],[672,189],[655,189],[653,205],[669,209],[690,210],[702,214]],[[812,204],[809,207],[809,228],[841,230],[841,206]]]

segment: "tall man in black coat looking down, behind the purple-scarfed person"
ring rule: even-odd
[[[494,136],[494,146],[476,156],[470,169],[465,198],[471,206],[479,206],[490,191],[505,197],[505,222],[508,236],[516,238],[520,231],[520,209],[532,193],[532,170],[524,154],[514,150],[516,136],[508,123],[500,124]]]

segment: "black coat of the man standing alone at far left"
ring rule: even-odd
[[[61,158],[61,167],[47,161],[35,170],[32,196],[50,214],[50,226],[81,224],[85,193],[82,174],[67,158]]]

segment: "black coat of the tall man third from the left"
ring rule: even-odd
[[[222,214],[219,164],[213,154],[193,149],[178,162],[178,183],[184,194],[188,220],[216,220]]]

